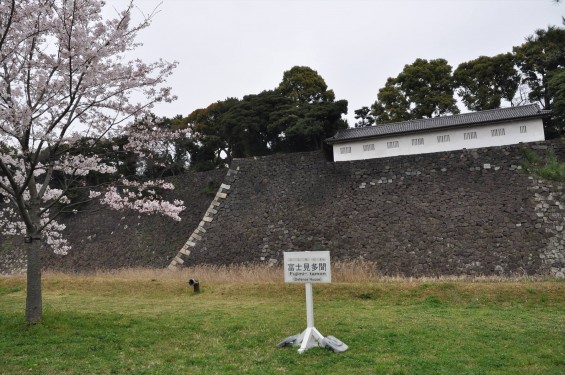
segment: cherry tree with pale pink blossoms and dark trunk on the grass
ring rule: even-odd
[[[113,209],[174,220],[184,209],[159,196],[173,188],[164,181],[76,183],[91,172],[116,171],[99,157],[69,152],[81,138],[94,146],[125,135],[130,151],[147,154],[155,137],[183,136],[156,132],[150,115],[155,102],[175,99],[163,84],[176,63],[127,57],[155,12],[134,24],[132,2],[112,19],[102,17],[103,6],[100,0],[0,0],[0,230],[24,239],[32,324],[42,319],[41,251],[70,249],[57,218],[78,207],[71,189]],[[62,187],[53,187],[54,174],[65,176]]]

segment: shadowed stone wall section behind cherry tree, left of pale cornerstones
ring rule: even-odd
[[[118,212],[91,205],[87,213],[62,218],[71,251],[64,256],[46,250],[44,268],[88,272],[123,267],[166,267],[202,219],[227,170],[187,173],[168,178],[175,190],[167,199],[182,199],[182,221],[162,216]],[[25,269],[22,238],[0,236],[0,274]]]

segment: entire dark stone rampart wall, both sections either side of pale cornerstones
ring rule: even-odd
[[[332,163],[322,153],[239,159],[229,171],[172,179],[183,221],[91,207],[65,219],[73,250],[45,267],[91,271],[202,263],[277,264],[284,251],[330,250],[386,275],[565,274],[565,189],[521,168],[523,148]],[[227,173],[226,173],[227,172]],[[217,190],[219,188],[219,190]],[[0,273],[25,256],[0,237]]]

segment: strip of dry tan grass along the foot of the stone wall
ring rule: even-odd
[[[316,298],[378,299],[383,304],[423,303],[428,298],[457,305],[536,305],[563,306],[565,280],[542,277],[442,276],[390,277],[376,271],[374,263],[360,260],[334,262],[332,284],[316,286]],[[224,303],[242,296],[294,300],[303,286],[285,284],[282,267],[264,264],[202,265],[171,271],[130,268],[92,273],[45,272],[43,290],[51,303],[73,308],[76,296],[87,295],[98,310],[120,308],[132,311],[160,311],[179,307],[179,301],[194,296],[187,285],[198,279],[208,302]],[[0,277],[0,289],[25,288],[25,275]],[[23,295],[23,294],[22,294]],[[140,302],[141,301],[141,302]],[[156,303],[155,301],[159,301]],[[136,311],[137,311],[136,310]],[[113,311],[113,310],[112,310]]]

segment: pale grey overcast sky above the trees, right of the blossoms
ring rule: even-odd
[[[129,0],[106,0],[106,14]],[[136,55],[176,60],[178,100],[155,109],[188,115],[227,97],[273,89],[295,65],[318,71],[353,111],[371,106],[388,77],[417,58],[455,69],[481,55],[510,52],[534,30],[562,26],[552,0],[136,0],[159,6]]]

